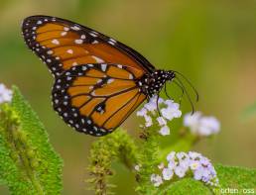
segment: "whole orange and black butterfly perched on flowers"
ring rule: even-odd
[[[54,109],[78,132],[96,137],[113,132],[167,81],[188,94],[180,72],[158,70],[136,50],[79,24],[31,16],[22,33],[55,77]]]

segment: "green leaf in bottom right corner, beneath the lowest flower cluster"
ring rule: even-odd
[[[215,165],[217,176],[219,178],[219,188],[211,188],[204,185],[200,181],[192,178],[185,178],[175,181],[164,189],[159,188],[157,194],[191,194],[191,195],[207,195],[207,194],[224,194],[224,190],[237,189],[242,193],[244,189],[255,190],[256,187],[256,170],[242,167],[232,167],[224,165]],[[226,193],[228,194],[228,193]]]

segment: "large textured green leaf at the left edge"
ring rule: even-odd
[[[60,194],[62,159],[18,88],[13,92],[0,109],[0,182],[11,194]]]

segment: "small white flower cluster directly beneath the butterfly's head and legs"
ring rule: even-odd
[[[137,112],[137,116],[144,117],[145,127],[151,127],[153,125],[152,116],[156,116],[158,113],[158,106],[161,113],[161,116],[157,118],[158,124],[161,127],[159,133],[163,136],[170,135],[170,129],[167,126],[168,121],[182,116],[180,105],[173,100],[164,100],[161,97],[158,99],[157,96],[154,96]]]

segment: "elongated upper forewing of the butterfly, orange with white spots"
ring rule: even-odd
[[[152,72],[154,66],[140,53],[99,32],[70,21],[31,16],[22,24],[26,44],[54,76],[77,64],[118,63]]]

